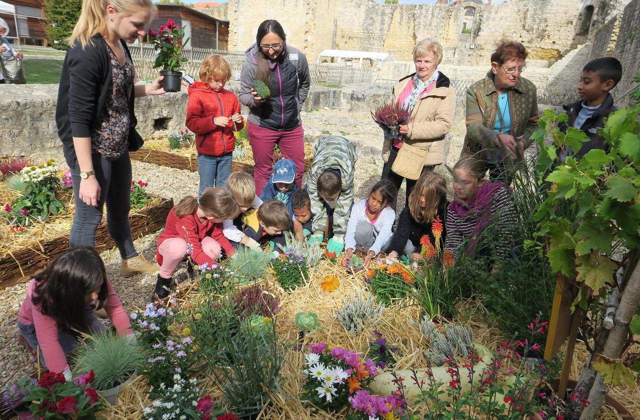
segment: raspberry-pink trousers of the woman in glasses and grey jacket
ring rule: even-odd
[[[302,125],[289,131],[276,131],[247,121],[246,135],[249,137],[255,162],[253,181],[258,196],[262,195],[262,188],[273,172],[273,149],[276,143],[282,156],[296,164],[296,183],[298,188],[302,188],[302,176],[305,173],[305,130]]]

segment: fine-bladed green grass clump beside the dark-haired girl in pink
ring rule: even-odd
[[[75,370],[93,370],[93,387],[106,391],[124,384],[142,367],[145,351],[141,345],[117,332],[104,331],[90,336],[74,350]]]

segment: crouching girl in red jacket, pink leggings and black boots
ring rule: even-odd
[[[164,232],[158,237],[156,259],[160,265],[152,300],[169,295],[172,276],[187,255],[197,265],[236,252],[222,233],[222,222],[235,219],[240,208],[233,194],[223,188],[207,188],[200,198],[186,196],[171,209]]]

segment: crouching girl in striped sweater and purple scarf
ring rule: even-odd
[[[445,246],[454,260],[458,259],[462,249],[467,256],[504,258],[511,253],[510,238],[517,215],[510,191],[504,182],[485,180],[484,173],[484,162],[472,156],[461,158],[453,167],[455,199],[447,208]],[[492,247],[481,241],[489,226],[498,236],[491,238]],[[499,263],[494,261],[493,271],[498,269]]]

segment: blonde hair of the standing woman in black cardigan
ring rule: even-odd
[[[156,14],[156,4],[152,0],[83,0],[80,17],[69,37],[69,46],[77,42],[83,47],[93,45],[92,36],[107,29],[107,6],[113,6],[122,17],[131,16],[140,9],[148,9]]]

